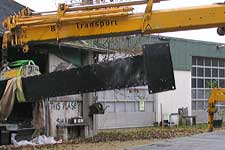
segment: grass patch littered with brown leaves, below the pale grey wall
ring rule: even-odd
[[[195,126],[180,126],[172,128],[144,127],[129,129],[102,130],[91,138],[94,142],[99,141],[128,141],[139,139],[169,139],[174,137],[190,136],[207,132],[207,124]]]

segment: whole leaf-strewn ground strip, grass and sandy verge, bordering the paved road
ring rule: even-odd
[[[224,130],[225,127],[219,129]],[[218,129],[217,129],[218,130]],[[182,126],[173,128],[145,127],[130,129],[103,130],[91,138],[78,138],[75,140],[26,146],[0,146],[0,149],[8,150],[54,150],[54,149],[75,149],[75,150],[122,150],[130,146],[138,146],[158,142],[162,139],[185,137],[194,134],[207,132],[207,124],[196,126]],[[51,139],[52,140],[52,139]],[[51,141],[50,140],[50,141]],[[48,141],[48,140],[47,140]],[[61,141],[60,141],[61,142]],[[37,142],[38,143],[38,142]],[[39,140],[42,143],[42,140]]]

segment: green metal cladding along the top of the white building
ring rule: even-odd
[[[170,43],[175,70],[190,70],[192,56],[225,59],[225,48],[222,43],[159,36],[151,36],[151,40],[152,42],[168,41]]]

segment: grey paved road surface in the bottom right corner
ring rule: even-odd
[[[127,150],[225,150],[225,131],[215,131],[191,137],[130,147]]]

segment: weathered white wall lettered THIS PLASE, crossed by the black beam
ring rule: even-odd
[[[68,64],[56,55],[49,54],[49,72],[53,72],[62,63]],[[67,66],[65,65],[65,67]],[[82,97],[80,94],[49,98],[48,103],[49,133],[53,137],[57,137],[57,124],[68,123],[69,119],[82,116]]]

